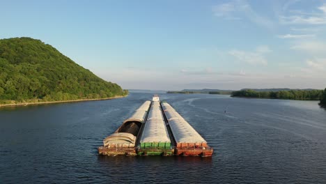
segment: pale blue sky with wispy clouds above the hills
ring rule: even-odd
[[[326,1],[1,1],[0,38],[124,89],[326,87]]]

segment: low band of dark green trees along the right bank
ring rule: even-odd
[[[244,98],[277,98],[289,100],[320,100],[323,90],[291,90],[291,91],[254,91],[251,89],[233,91],[233,97]]]

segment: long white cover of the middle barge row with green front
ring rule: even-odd
[[[150,107],[150,113],[143,128],[140,142],[171,142],[162,116],[162,110],[160,109],[160,102],[153,102],[152,107]]]

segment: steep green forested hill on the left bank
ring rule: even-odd
[[[32,38],[0,40],[0,103],[118,95],[127,95],[127,91],[100,79],[51,45]]]

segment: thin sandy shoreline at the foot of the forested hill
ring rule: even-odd
[[[1,107],[20,107],[27,105],[46,105],[46,104],[56,104],[56,103],[68,103],[68,102],[85,102],[85,101],[98,101],[98,100],[113,100],[117,98],[125,98],[128,95],[117,95],[115,97],[110,98],[93,98],[93,99],[80,99],[80,100],[61,100],[61,101],[53,101],[53,102],[22,102],[17,104],[0,104]]]

